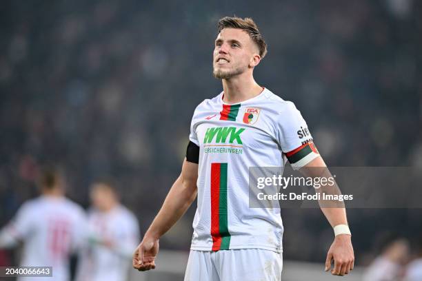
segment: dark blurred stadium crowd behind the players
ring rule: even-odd
[[[328,165],[422,170],[421,9],[416,0],[3,2],[0,226],[37,195],[48,164],[66,171],[68,196],[83,207],[94,178],[115,178],[145,232],[181,169],[194,108],[221,92],[212,50],[217,20],[233,14],[259,25],[269,48],[255,79],[297,105]],[[194,209],[161,247],[188,251]],[[421,242],[421,214],[348,210],[356,262],[369,264],[385,233]],[[286,209],[283,220],[285,258],[325,260],[333,235],[321,211]]]

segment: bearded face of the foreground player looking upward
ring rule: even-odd
[[[242,74],[259,54],[249,34],[237,28],[224,28],[215,40],[212,74],[218,79],[230,79]]]

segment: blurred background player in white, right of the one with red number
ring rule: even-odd
[[[119,203],[110,180],[91,187],[86,246],[81,252],[78,281],[124,281],[134,247],[139,241],[139,222]]]

